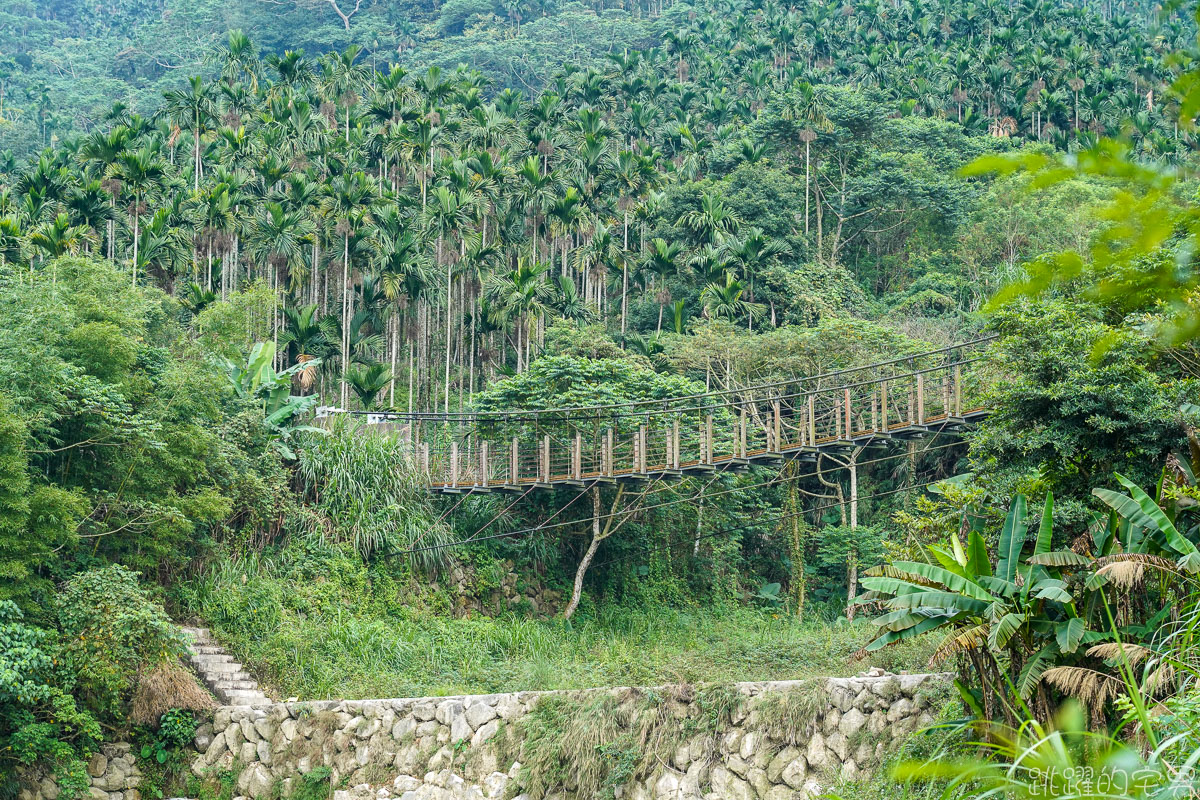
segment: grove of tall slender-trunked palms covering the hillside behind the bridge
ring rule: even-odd
[[[642,347],[684,332],[689,308],[775,324],[756,276],[836,267],[854,216],[824,167],[840,157],[827,86],[990,148],[1122,131],[1160,158],[1193,146],[1169,122],[1160,54],[1192,35],[1175,18],[1032,0],[673,10],[648,49],[566,65],[536,92],[467,67],[377,70],[355,46],[259,54],[232,34],[155,114],[118,103],[26,167],[10,157],[0,258],[50,281],[55,255],[112,259],[193,314],[266,287],[277,366],[311,365],[305,391],[449,410],[526,369],[556,319]],[[803,178],[798,247],[708,188],[665,218],[671,187],[778,149],[767,118]],[[631,323],[635,302],[656,306],[652,324]]]

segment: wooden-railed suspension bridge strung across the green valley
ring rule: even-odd
[[[995,336],[818,375],[613,405],[356,413],[407,443],[434,493],[638,483],[816,462],[895,439],[958,434],[988,415]]]

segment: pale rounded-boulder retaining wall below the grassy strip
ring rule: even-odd
[[[947,685],[940,675],[738,684],[737,702],[719,728],[683,735],[659,768],[618,787],[616,796],[816,796],[838,780],[869,771],[900,739],[932,722],[934,697]],[[526,800],[517,794],[528,786],[520,764],[522,718],[547,697],[583,708],[605,693],[619,703],[661,703],[665,714],[680,720],[702,716],[701,696],[690,687],[222,708],[198,733],[202,752],[192,769],[200,776],[236,771],[236,790],[245,798],[287,796],[299,782],[328,780],[335,800]],[[796,709],[808,716],[787,723]],[[576,798],[572,783],[568,778],[545,796]]]

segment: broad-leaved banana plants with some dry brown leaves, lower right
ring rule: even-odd
[[[1096,662],[1111,657],[1112,646],[1158,646],[1162,620],[1189,594],[1188,576],[1200,570],[1200,551],[1168,516],[1175,506],[1164,511],[1136,485],[1117,479],[1130,497],[1097,494],[1121,515],[1120,527],[1116,515],[1108,525],[1097,521],[1091,542],[1076,542],[1079,552],[1055,549],[1052,495],[1036,521],[1025,497],[1016,495],[994,540],[994,558],[980,529],[968,527],[965,546],[955,531],[946,547],[928,546],[925,561],[870,570],[862,582],[870,591],[859,602],[882,602],[890,610],[875,620],[881,633],[866,651],[934,633],[941,638],[934,663],[959,657],[978,673],[979,684],[964,691],[985,720],[1003,715],[1012,724],[1024,703],[1049,718],[1056,705],[1050,687],[1082,698],[1102,720],[1118,679]],[[1159,570],[1162,581],[1133,577],[1145,569]],[[1134,589],[1138,602],[1130,603]],[[1163,676],[1156,680],[1162,687]]]

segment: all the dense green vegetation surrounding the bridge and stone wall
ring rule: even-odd
[[[120,734],[224,798],[144,711],[179,621],[305,699],[953,669],[942,752],[1078,700],[1194,786],[1184,10],[17,0],[0,42],[0,796],[86,794]],[[979,336],[965,437],[592,487],[602,541],[582,491],[432,497],[324,415]]]

